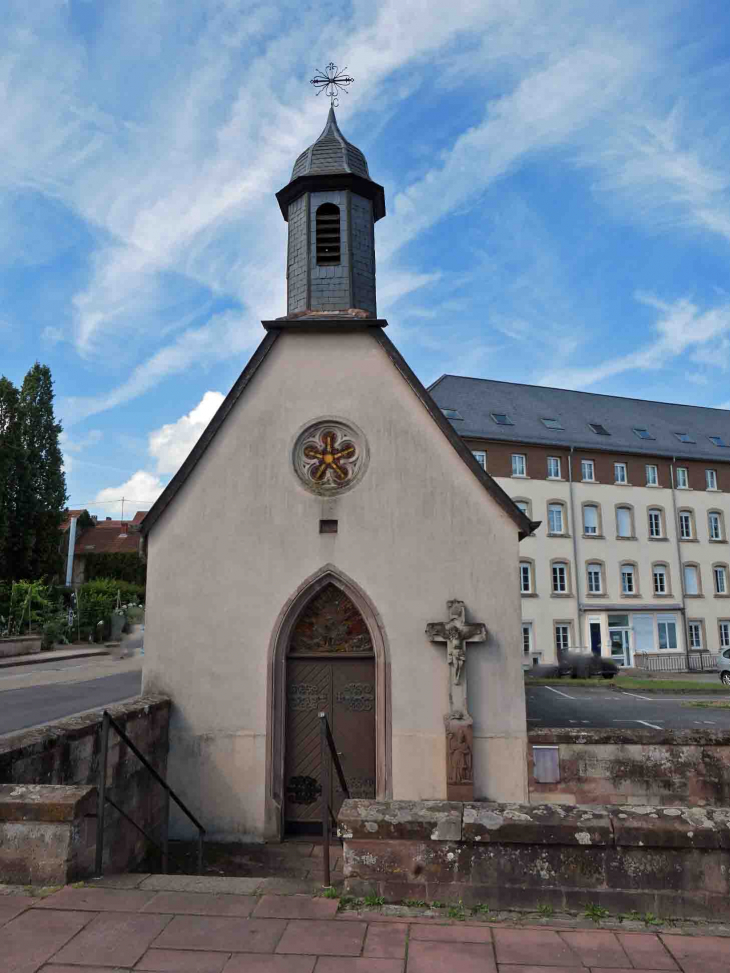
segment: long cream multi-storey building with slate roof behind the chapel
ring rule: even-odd
[[[527,664],[730,647],[730,412],[454,375],[430,392],[541,521],[515,578]]]

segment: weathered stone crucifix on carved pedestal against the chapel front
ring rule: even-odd
[[[446,798],[449,801],[474,800],[473,732],[466,699],[466,643],[485,642],[487,626],[469,624],[466,605],[454,598],[446,602],[445,622],[429,622],[426,636],[431,642],[446,642],[449,664],[449,712],[446,729]]]

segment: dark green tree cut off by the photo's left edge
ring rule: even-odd
[[[18,510],[26,462],[20,420],[20,396],[13,383],[0,377],[0,578],[16,576],[16,563],[30,550],[30,532]],[[25,534],[25,536],[24,536]]]

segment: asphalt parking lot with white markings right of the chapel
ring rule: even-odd
[[[629,729],[730,729],[730,709],[688,706],[691,701],[712,699],[730,703],[725,695],[659,696],[611,691],[600,687],[571,688],[566,679],[560,689],[525,686],[527,729],[541,727],[627,727]]]

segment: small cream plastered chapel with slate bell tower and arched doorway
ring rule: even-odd
[[[385,192],[333,108],[276,198],[286,314],[142,526],[170,784],[211,838],[321,833],[326,713],[353,797],[526,801],[535,525],[387,336]]]

